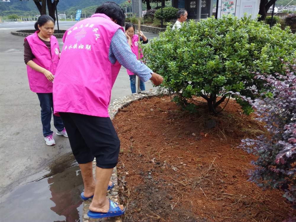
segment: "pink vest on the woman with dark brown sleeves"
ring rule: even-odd
[[[32,52],[36,57],[36,59],[33,59],[33,62],[50,71],[52,75],[55,75],[59,62],[59,43],[55,36],[50,37],[50,55],[47,46],[38,38],[38,32],[40,31],[38,30],[25,38],[25,41],[26,39],[28,40]],[[27,72],[31,91],[36,93],[52,93],[53,84],[51,81],[47,80],[43,73],[33,70],[28,65]]]

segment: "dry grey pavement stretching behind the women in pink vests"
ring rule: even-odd
[[[67,29],[74,24],[75,21],[60,21],[59,28]],[[5,201],[4,194],[71,151],[64,136],[55,135],[56,145],[52,147],[45,144],[39,100],[29,89],[23,59],[24,37],[10,34],[14,29],[34,29],[34,22],[0,23],[0,202]],[[144,34],[149,39],[158,36]],[[62,39],[58,41],[62,49]],[[152,84],[147,82],[146,89],[152,89]],[[129,78],[122,67],[112,89],[111,101],[129,94]],[[56,131],[53,121],[52,130]]]

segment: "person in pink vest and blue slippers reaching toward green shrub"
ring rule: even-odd
[[[107,199],[113,168],[118,163],[120,140],[109,116],[111,89],[121,65],[155,85],[163,78],[138,61],[126,41],[124,12],[105,2],[90,18],[68,29],[53,86],[54,112],[67,130],[71,149],[81,169],[84,192],[92,199],[88,216],[124,214],[123,205]],[[96,157],[96,181],[92,161]]]

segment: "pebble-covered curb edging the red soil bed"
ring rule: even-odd
[[[115,117],[115,115],[118,113],[119,108],[127,107],[131,102],[143,99],[146,97],[153,97],[160,95],[157,91],[143,91],[141,93],[134,93],[129,96],[123,96],[122,98],[115,99],[112,103],[109,104],[108,111],[111,120]],[[93,175],[94,178],[96,178],[96,159],[93,161]],[[113,202],[116,202],[120,204],[119,197],[118,197],[118,176],[117,176],[117,169],[114,167],[112,176],[110,178],[110,181],[114,183],[114,187],[107,192],[107,198],[112,200]],[[121,216],[117,217],[108,217],[108,218],[89,218],[87,215],[87,212],[89,211],[89,205],[91,204],[92,199],[84,200],[83,201],[83,213],[82,213],[82,222],[103,222],[103,221],[109,221],[109,222],[122,222]],[[124,215],[123,215],[124,216]]]

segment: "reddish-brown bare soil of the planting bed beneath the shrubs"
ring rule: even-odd
[[[236,147],[266,131],[235,101],[218,117],[204,103],[197,114],[183,112],[168,96],[125,110],[113,120],[125,221],[283,221],[292,212],[283,192],[247,181],[257,158]],[[217,126],[206,128],[213,119]]]

